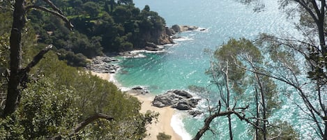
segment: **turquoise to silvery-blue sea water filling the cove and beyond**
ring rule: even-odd
[[[115,79],[124,87],[144,86],[152,94],[158,95],[172,89],[189,90],[189,86],[207,87],[210,77],[205,74],[209,68],[210,56],[205,49],[217,49],[229,38],[248,38],[254,40],[259,33],[298,34],[293,20],[278,10],[276,1],[266,1],[266,8],[254,13],[252,6],[245,6],[234,0],[135,0],[135,6],[141,10],[149,5],[151,10],[165,18],[167,26],[174,24],[199,26],[206,31],[188,31],[179,33],[183,38],[175,40],[175,45],[165,46],[165,52],[143,53],[139,58],[121,58],[121,70]],[[294,20],[296,21],[296,20]],[[215,94],[214,91],[211,94]],[[210,98],[215,95],[197,94]],[[301,125],[296,116],[300,111],[291,101],[285,99],[279,111],[272,118],[287,120],[294,128],[305,136],[312,135],[310,126]],[[205,107],[206,102],[200,106]],[[199,107],[199,108],[201,108]],[[191,139],[203,125],[204,116],[193,118],[185,112],[177,112],[172,118],[174,130],[183,137]],[[233,117],[234,139],[252,139],[249,126]],[[202,139],[228,139],[227,118],[216,119],[211,125],[215,134],[207,132]]]

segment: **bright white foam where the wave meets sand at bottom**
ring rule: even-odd
[[[174,132],[182,137],[183,140],[190,140],[192,139],[191,135],[186,132],[183,118],[185,118],[185,113],[183,112],[175,112],[175,114],[172,116],[172,121],[170,122],[170,125],[172,126]]]

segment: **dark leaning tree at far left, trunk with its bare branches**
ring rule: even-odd
[[[10,33],[10,75],[8,77],[8,93],[6,97],[6,106],[2,114],[3,117],[12,114],[17,109],[17,105],[20,103],[22,89],[26,88],[29,71],[42,59],[43,55],[52,48],[52,45],[49,45],[39,52],[31,63],[26,65],[25,68],[22,68],[22,32],[26,22],[26,12],[31,8],[43,10],[61,17],[61,19],[67,22],[70,28],[73,27],[68,19],[63,16],[61,10],[56,8],[51,1],[45,0],[45,2],[51,6],[52,10],[42,6],[25,6],[26,1],[24,0],[15,1],[13,26]]]

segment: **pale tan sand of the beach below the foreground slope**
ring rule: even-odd
[[[97,75],[102,79],[106,79],[106,80],[110,79],[109,81],[113,80],[113,78],[110,77],[111,75],[109,73],[98,73],[98,72],[91,72],[91,73],[92,75]],[[112,81],[112,82],[114,82],[116,86],[120,87],[120,85],[116,83],[116,81]],[[154,98],[153,95],[135,95],[135,97],[140,102],[142,102],[142,109],[141,109],[142,113],[145,113],[146,111],[150,110],[150,111],[158,112],[160,114],[160,116],[158,117],[158,123],[152,123],[151,125],[147,126],[147,131],[150,134],[150,136],[146,137],[145,139],[155,140],[157,139],[156,137],[159,134],[159,132],[165,132],[165,134],[169,134],[170,136],[172,136],[172,140],[182,139],[181,136],[179,136],[178,134],[176,134],[176,132],[174,132],[174,129],[170,125],[172,116],[174,115],[174,111],[175,111],[174,109],[170,107],[162,107],[162,108],[153,107],[151,105],[151,101]]]

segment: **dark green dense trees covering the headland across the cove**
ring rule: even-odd
[[[74,25],[70,32],[54,15],[32,10],[29,19],[38,34],[38,42],[61,49],[60,59],[83,66],[76,59],[104,52],[121,52],[145,47],[146,42],[159,43],[165,20],[146,6],[136,8],[132,1],[52,1]],[[36,1],[42,5],[44,1]],[[78,56],[77,56],[78,55]]]

